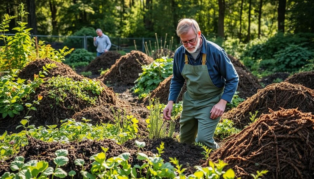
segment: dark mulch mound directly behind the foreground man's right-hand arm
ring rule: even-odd
[[[247,97],[253,96],[258,89],[262,86],[258,83],[258,80],[252,73],[235,57],[228,55],[230,61],[236,69],[239,75],[239,83],[237,92],[239,97],[246,99]]]

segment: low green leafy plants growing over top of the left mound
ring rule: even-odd
[[[46,81],[46,87],[50,88],[48,97],[56,100],[56,104],[62,105],[67,98],[67,92],[74,94],[79,99],[90,104],[95,104],[97,96],[89,97],[89,93],[100,95],[103,87],[100,82],[91,79],[75,81],[72,78],[57,76],[51,77]]]

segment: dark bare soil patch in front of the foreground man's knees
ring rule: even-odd
[[[161,157],[169,162],[169,157],[176,157],[179,160],[179,163],[182,164],[183,168],[187,168],[186,174],[191,174],[194,171],[193,167],[196,165],[200,165],[202,158],[204,157],[201,152],[201,149],[195,145],[187,145],[185,143],[180,143],[172,138],[163,138],[150,140],[147,138],[138,139],[139,141],[144,141],[146,146],[144,147],[144,151],[152,152],[154,154],[158,153],[156,147],[159,147],[161,142],[165,143],[164,153],[161,154]],[[132,150],[136,150],[137,147],[134,145],[135,140],[129,140],[123,144],[124,147],[127,147]]]

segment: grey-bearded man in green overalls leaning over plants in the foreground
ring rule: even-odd
[[[175,52],[168,104],[163,110],[169,120],[173,103],[187,80],[180,118],[180,141],[201,142],[218,149],[214,131],[227,103],[236,92],[239,76],[226,52],[207,41],[194,19],[181,19],[176,29],[182,44]]]

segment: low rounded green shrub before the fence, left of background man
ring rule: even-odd
[[[85,49],[75,49],[70,57],[64,62],[69,66],[86,66],[95,58],[92,52]]]

